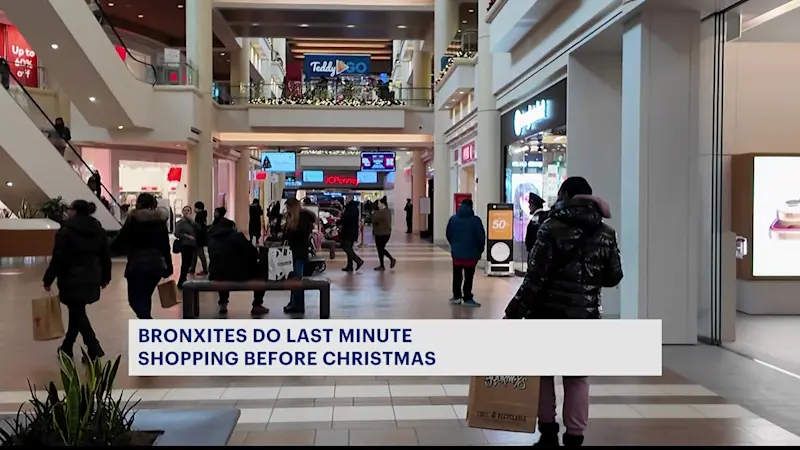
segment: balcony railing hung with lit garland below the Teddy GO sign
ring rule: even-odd
[[[373,82],[318,80],[231,85],[214,83],[214,101],[220,105],[308,106],[416,106],[430,107],[433,90],[404,88]]]

